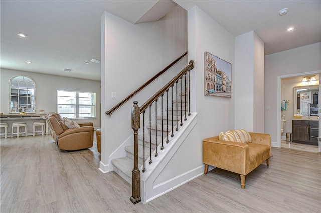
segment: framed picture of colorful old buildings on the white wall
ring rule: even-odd
[[[232,64],[204,52],[204,95],[232,96]]]

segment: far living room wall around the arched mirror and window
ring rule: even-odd
[[[48,112],[57,112],[57,90],[96,92],[96,118],[77,119],[79,122],[93,122],[95,128],[100,127],[100,81],[80,78],[62,77],[56,75],[40,74],[35,72],[1,69],[0,112],[9,112],[9,81],[16,75],[27,75],[36,83],[36,113],[40,109]]]

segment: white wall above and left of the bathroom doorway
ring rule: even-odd
[[[277,141],[277,77],[283,75],[321,70],[321,43],[315,43],[265,56],[264,104],[265,133],[270,134],[272,142]]]

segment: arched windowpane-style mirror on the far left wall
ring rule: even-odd
[[[9,113],[35,113],[36,84],[28,76],[18,75],[9,81]]]

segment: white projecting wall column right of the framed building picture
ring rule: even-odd
[[[264,43],[254,31],[235,37],[235,128],[264,132]]]

